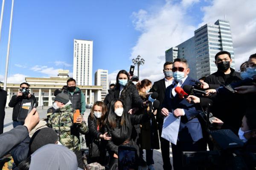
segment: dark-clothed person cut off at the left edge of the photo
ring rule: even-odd
[[[1,89],[0,86],[0,134],[3,133],[3,120],[5,117],[5,107],[6,107],[6,98],[7,98],[7,92],[3,89]]]

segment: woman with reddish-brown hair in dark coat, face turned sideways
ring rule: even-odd
[[[140,97],[143,100],[148,100],[148,96],[152,87],[152,83],[148,79],[144,79],[137,84],[137,90],[139,92]],[[146,164],[149,170],[154,170],[154,160],[153,160],[153,149],[160,149],[159,146],[159,138],[157,132],[157,121],[154,117],[154,114],[147,109],[143,109],[139,111],[140,113],[148,113],[150,115],[150,120],[144,122],[140,128],[136,128],[137,133],[139,134],[139,138],[137,143],[140,143],[140,160],[143,159],[143,149],[146,150]],[[154,112],[156,113],[156,112]]]

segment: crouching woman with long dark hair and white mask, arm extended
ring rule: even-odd
[[[110,170],[116,170],[118,167],[118,147],[125,145],[134,147],[139,155],[139,147],[131,139],[131,133],[135,124],[142,124],[148,120],[147,114],[130,115],[125,111],[125,104],[122,100],[114,99],[111,101],[108,116],[106,118],[105,131],[111,135],[111,140],[107,143],[110,154]]]

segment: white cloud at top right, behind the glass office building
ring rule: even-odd
[[[211,5],[203,7],[202,26],[218,19],[230,21],[233,37],[233,47],[236,59],[236,69],[251,54],[256,53],[256,0],[213,0]],[[224,12],[225,11],[225,12]]]

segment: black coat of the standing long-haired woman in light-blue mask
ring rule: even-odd
[[[105,97],[104,103],[110,107],[110,103],[113,99],[119,99],[119,93],[120,89],[113,88],[109,90],[109,94]],[[136,86],[131,84],[128,87],[128,95],[125,97],[124,103],[125,103],[125,109],[129,111],[132,107],[139,107],[143,108],[144,101],[140,98],[140,95],[136,89]]]

